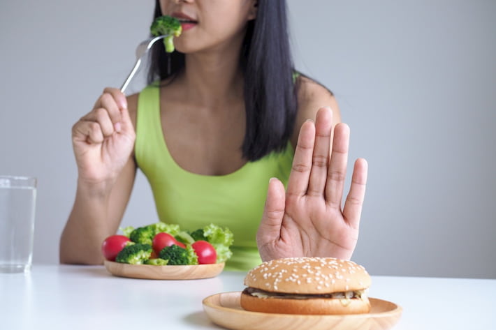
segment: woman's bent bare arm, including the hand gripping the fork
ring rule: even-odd
[[[75,202],[60,239],[62,263],[101,264],[101,244],[115,234],[136,176],[136,97],[105,89],[94,109],[73,126],[78,164]]]

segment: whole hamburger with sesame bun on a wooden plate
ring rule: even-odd
[[[370,275],[363,266],[332,257],[263,262],[245,277],[241,307],[262,313],[359,314],[370,311]]]

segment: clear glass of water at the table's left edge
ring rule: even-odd
[[[0,273],[31,270],[36,178],[0,175]]]

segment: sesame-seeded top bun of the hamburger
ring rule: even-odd
[[[251,269],[245,285],[269,292],[323,294],[364,290],[370,275],[363,266],[333,257],[291,257]]]

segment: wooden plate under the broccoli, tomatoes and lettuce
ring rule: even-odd
[[[219,275],[224,269],[220,264],[195,264],[185,266],[154,266],[151,264],[122,264],[105,260],[105,268],[115,276],[149,280],[196,280]]]

